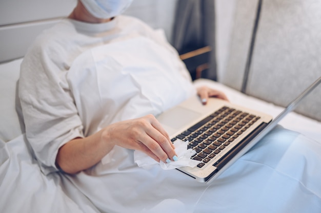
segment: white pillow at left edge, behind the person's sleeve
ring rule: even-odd
[[[22,60],[0,64],[0,139],[5,142],[24,132],[24,123],[18,116],[20,103],[16,93]]]

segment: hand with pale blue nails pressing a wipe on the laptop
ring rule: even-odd
[[[111,124],[105,128],[103,139],[113,145],[142,151],[157,162],[177,160],[174,145],[153,115]]]

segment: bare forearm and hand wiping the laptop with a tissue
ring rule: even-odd
[[[174,146],[153,115],[117,122],[86,138],[76,138],[58,150],[56,165],[76,174],[98,163],[114,145],[139,150],[154,160],[177,160]]]

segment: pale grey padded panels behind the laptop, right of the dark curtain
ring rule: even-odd
[[[321,2],[244,0],[237,1],[235,8],[229,58],[221,81],[241,91],[247,79],[246,94],[285,107],[321,76]],[[321,87],[300,103],[296,112],[321,121]]]

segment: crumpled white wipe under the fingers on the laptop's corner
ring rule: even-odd
[[[199,161],[192,160],[191,157],[195,154],[195,151],[187,149],[188,141],[176,140],[174,142],[175,152],[177,154],[177,161],[171,161],[170,163],[164,163],[160,161],[159,163],[149,157],[147,154],[141,151],[134,151],[134,161],[139,167],[148,167],[154,164],[159,164],[161,168],[174,169],[184,166],[195,167]]]

